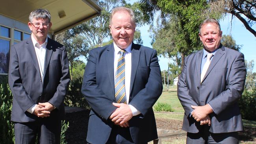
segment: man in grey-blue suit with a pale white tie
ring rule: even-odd
[[[237,100],[245,84],[244,55],[224,47],[221,36],[217,20],[204,20],[199,27],[204,48],[185,58],[179,77],[188,144],[238,144],[237,131],[243,130]]]

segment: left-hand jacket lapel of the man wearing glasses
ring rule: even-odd
[[[31,56],[31,59],[32,59],[32,62],[33,62],[33,65],[35,66],[35,69],[37,70],[39,76],[41,76],[40,74],[40,69],[39,69],[39,65],[38,65],[38,61],[37,61],[37,55],[35,53],[35,47],[33,46],[33,42],[32,42],[32,39],[28,39],[26,41],[26,44],[28,44],[28,53],[30,54]],[[40,77],[41,78],[41,77]]]

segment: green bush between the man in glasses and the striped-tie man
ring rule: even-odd
[[[66,106],[90,109],[81,92],[84,69],[85,63],[82,61],[74,61],[73,79],[70,81],[69,90],[64,100]]]

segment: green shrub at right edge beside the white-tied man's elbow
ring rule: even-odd
[[[256,120],[256,87],[245,89],[238,103],[243,119]]]

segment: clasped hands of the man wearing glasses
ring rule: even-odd
[[[38,103],[35,106],[35,110],[33,114],[38,117],[44,118],[50,116],[50,112],[54,109],[54,106],[48,102],[46,103]]]

